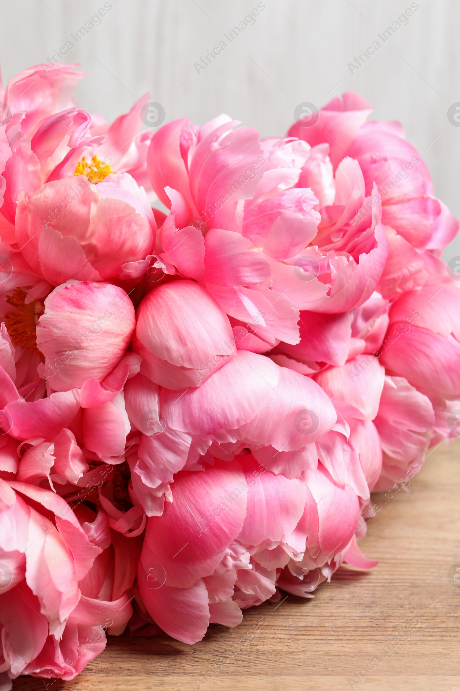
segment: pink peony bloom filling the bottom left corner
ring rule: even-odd
[[[73,679],[132,614],[107,517],[24,482],[0,480],[0,493],[4,688],[19,674]]]

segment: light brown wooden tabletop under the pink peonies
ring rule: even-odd
[[[460,583],[448,577],[460,568],[460,441],[432,451],[409,492],[374,500],[383,508],[359,543],[380,560],[373,571],[341,568],[314,599],[254,607],[193,646],[110,637],[74,681],[21,677],[13,690],[460,690]]]

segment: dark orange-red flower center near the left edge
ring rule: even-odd
[[[32,300],[26,305],[26,297],[27,293],[22,288],[14,288],[13,294],[6,296],[6,302],[14,307],[14,312],[5,314],[5,323],[13,345],[32,352],[38,350],[35,328],[45,305],[43,300]]]

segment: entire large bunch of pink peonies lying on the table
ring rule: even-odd
[[[459,223],[397,122],[141,131],[81,76],[0,92],[2,690],[374,566],[370,492],[459,433]]]

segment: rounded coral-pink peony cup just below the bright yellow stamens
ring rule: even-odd
[[[145,193],[128,173],[108,178],[94,186],[67,176],[19,196],[17,243],[51,285],[113,281],[123,264],[150,253],[155,223]]]

